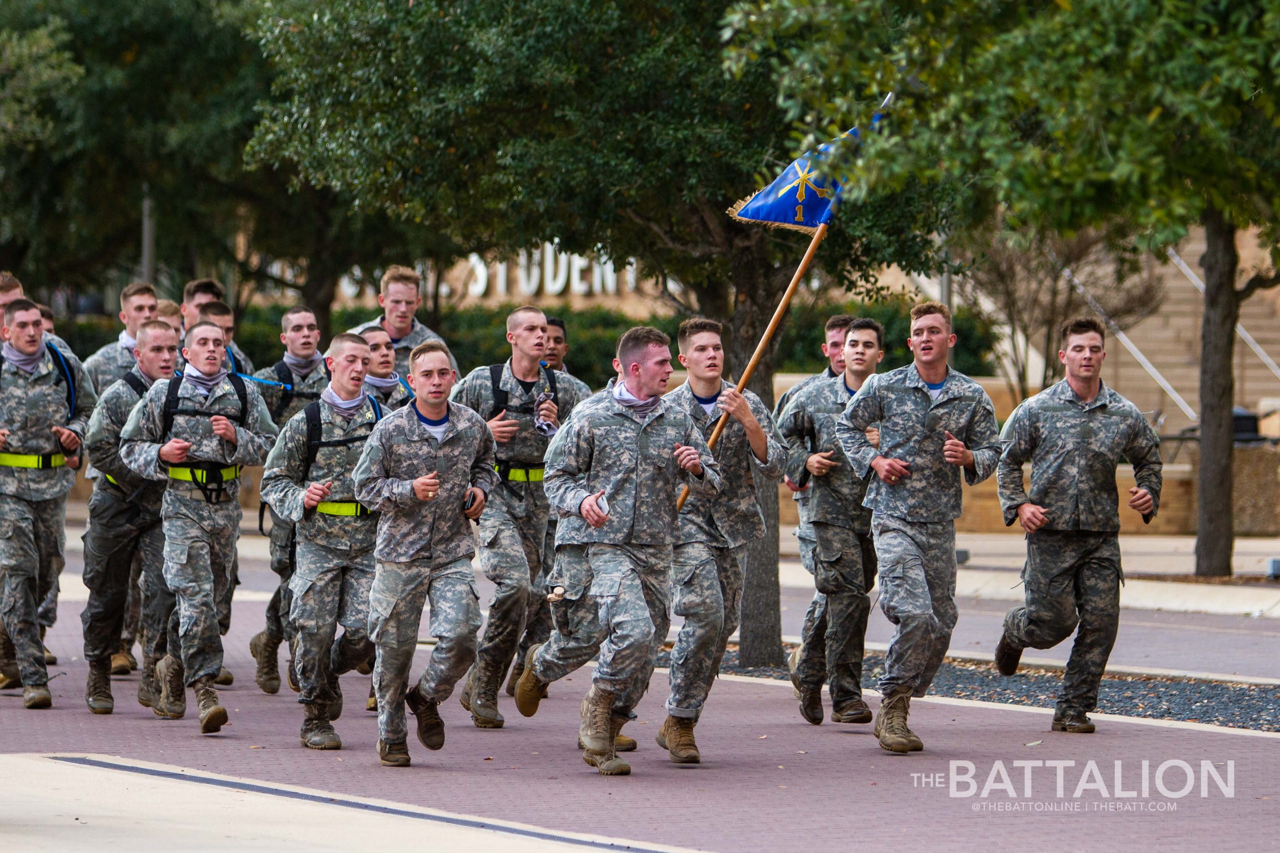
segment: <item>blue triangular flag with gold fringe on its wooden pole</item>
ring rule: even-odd
[[[890,99],[884,99],[884,105],[888,105],[888,101]],[[882,105],[881,109],[883,109],[884,105]],[[872,119],[872,127],[876,126],[878,119],[879,115],[877,114],[876,118]],[[778,302],[777,310],[773,311],[773,319],[769,320],[768,328],[764,329],[764,336],[755,346],[755,352],[751,355],[751,360],[746,362],[746,369],[742,370],[742,375],[737,380],[739,393],[741,393],[742,389],[746,388],[746,383],[751,380],[751,375],[755,373],[755,365],[759,364],[760,359],[764,356],[764,351],[768,348],[769,341],[773,338],[773,333],[777,330],[778,324],[782,323],[782,318],[787,313],[787,306],[791,305],[791,297],[795,296],[796,287],[800,286],[805,273],[809,272],[809,264],[813,263],[814,252],[818,251],[818,245],[822,242],[822,238],[827,236],[827,223],[831,222],[831,216],[836,210],[836,204],[840,201],[842,187],[828,182],[828,179],[818,170],[814,161],[827,155],[832,146],[846,138],[856,141],[858,129],[855,128],[849,131],[847,133],[841,134],[837,140],[832,140],[831,142],[818,146],[817,151],[812,151],[788,165],[782,174],[780,174],[777,179],[764,190],[748,196],[728,209],[728,215],[739,222],[759,223],[769,228],[790,228],[792,231],[803,231],[806,234],[813,234],[813,240],[809,241],[809,248],[805,250],[804,257],[800,260],[800,266],[796,268],[795,275],[791,277],[791,283],[787,284],[787,289],[782,293],[782,300]],[[727,424],[728,412],[726,411],[721,415],[719,421],[716,424],[716,429],[707,441],[707,446],[709,448],[716,448],[716,444],[719,442],[719,437],[724,432],[724,426]],[[676,510],[680,511],[685,508],[685,501],[687,500],[689,487],[686,485],[680,493],[680,500],[676,501]]]

